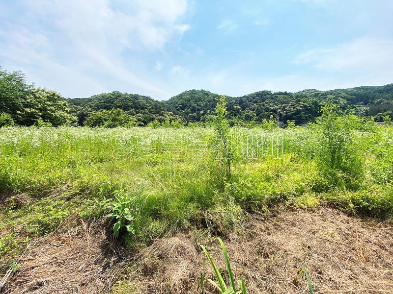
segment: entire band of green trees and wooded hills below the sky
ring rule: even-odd
[[[63,98],[56,91],[36,88],[21,72],[0,68],[0,126],[87,125],[91,127],[182,124],[212,121],[219,94],[206,90],[185,91],[168,101],[114,91],[89,98]],[[260,91],[242,97],[226,97],[231,125],[276,121],[309,123],[321,107],[334,103],[343,110],[375,121],[393,118],[393,84],[330,91],[297,93]]]

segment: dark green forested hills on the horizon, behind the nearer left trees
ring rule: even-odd
[[[207,123],[213,120],[219,96],[206,90],[189,90],[168,101],[157,101],[147,96],[114,91],[89,98],[72,98],[68,102],[81,125],[91,112],[113,108],[134,116],[140,125],[154,120],[163,122],[167,116],[171,120],[183,118],[187,122]],[[226,98],[228,119],[232,125],[239,121],[261,122],[271,116],[283,122],[309,123],[320,115],[324,103],[336,103],[344,110],[352,110],[359,116],[373,116],[377,121],[382,121],[386,115],[393,118],[393,84],[297,93],[259,91]]]

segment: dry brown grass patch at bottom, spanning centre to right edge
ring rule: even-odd
[[[194,238],[179,234],[141,252],[140,268],[130,279],[136,293],[200,293],[203,254]],[[392,225],[329,208],[282,212],[269,220],[250,218],[241,236],[224,242],[232,270],[245,277],[249,293],[307,293],[302,264],[314,293],[393,293]],[[224,269],[218,242],[204,245]],[[206,278],[215,280],[210,265]]]

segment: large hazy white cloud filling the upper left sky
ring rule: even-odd
[[[168,93],[138,68],[131,51],[164,50],[190,28],[181,22],[186,0],[18,0],[21,13],[0,20],[2,65],[25,68],[41,86],[65,96],[96,94],[97,89],[128,88],[130,92],[162,97]],[[38,33],[39,32],[39,33]],[[128,56],[124,58],[124,55]],[[56,65],[56,66],[54,66]],[[54,67],[57,71],[54,70]],[[91,87],[88,76],[105,75],[105,86]],[[42,73],[46,73],[42,75]],[[86,86],[78,89],[60,81]],[[78,74],[76,74],[78,73]],[[71,80],[74,80],[74,83]],[[109,82],[112,80],[112,82]],[[88,82],[89,81],[89,82]],[[101,80],[102,81],[102,80]],[[98,82],[96,83],[98,84]]]

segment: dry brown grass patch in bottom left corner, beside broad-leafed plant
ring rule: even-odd
[[[110,252],[102,225],[59,229],[38,241],[1,293],[99,293],[124,268],[124,260]]]

